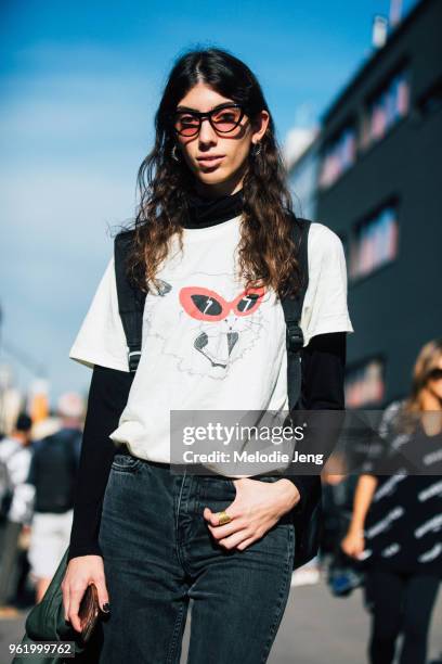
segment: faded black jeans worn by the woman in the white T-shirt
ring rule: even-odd
[[[100,664],[180,662],[191,598],[190,664],[266,662],[290,589],[295,527],[287,513],[244,551],[223,548],[203,511],[227,508],[235,491],[225,477],[115,456],[100,531],[110,604]]]

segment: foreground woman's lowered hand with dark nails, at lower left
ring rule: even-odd
[[[99,591],[99,602],[104,613],[108,612],[108,593],[104,578],[104,565],[101,556],[79,556],[69,560],[62,583],[65,620],[69,621],[76,631],[81,631],[78,609],[84,590],[94,583]],[[107,604],[107,608],[105,608]]]

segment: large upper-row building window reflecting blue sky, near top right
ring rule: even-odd
[[[385,137],[408,108],[410,75],[407,69],[402,69],[368,102],[362,122],[361,148],[365,150]]]

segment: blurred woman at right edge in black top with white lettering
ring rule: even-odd
[[[385,412],[387,450],[361,475],[341,546],[367,556],[369,661],[424,664],[442,575],[442,340],[420,350],[411,396]]]

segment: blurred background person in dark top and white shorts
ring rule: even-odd
[[[28,559],[38,603],[69,542],[74,487],[81,451],[83,401],[75,393],[60,397],[61,429],[34,445],[28,482],[35,507]]]

